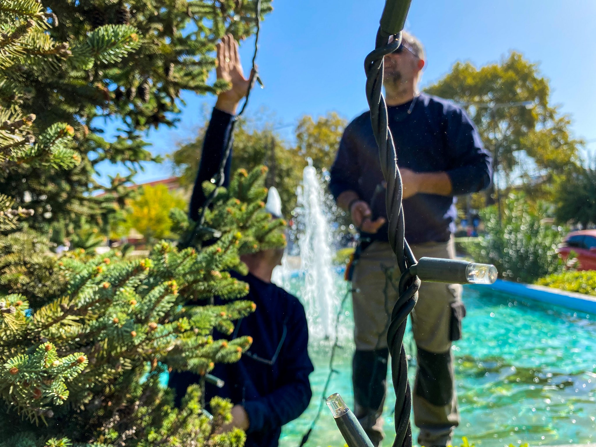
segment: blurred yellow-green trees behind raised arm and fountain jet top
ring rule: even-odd
[[[277,188],[282,212],[290,217],[296,207],[296,188],[302,181],[302,170],[308,164],[306,158],[311,157],[319,172],[328,169],[345,126],[346,121],[334,112],[318,117],[316,121],[309,115],[303,116],[295,129],[296,146],[292,147],[275,133],[274,122],[241,119],[234,129],[232,171],[252,170],[262,164],[267,166],[265,185]],[[194,184],[206,130],[207,123],[199,129],[194,141],[179,145],[171,156],[175,174],[180,176],[182,185],[192,187]]]

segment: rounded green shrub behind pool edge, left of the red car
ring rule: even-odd
[[[544,203],[532,206],[525,199],[523,194],[510,194],[500,220],[496,206],[482,210],[486,234],[465,249],[476,262],[494,264],[501,278],[534,283],[563,268],[555,249],[564,231],[545,222]]]

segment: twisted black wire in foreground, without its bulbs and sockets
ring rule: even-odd
[[[387,329],[387,346],[391,354],[391,371],[393,388],[395,390],[395,441],[393,447],[412,446],[412,427],[410,411],[412,409],[412,395],[408,382],[408,359],[403,347],[403,335],[406,330],[408,315],[414,309],[418,300],[420,279],[412,275],[409,268],[415,265],[416,259],[408,242],[405,240],[405,226],[403,222],[403,185],[399,173],[397,154],[393,136],[387,122],[387,105],[383,98],[383,57],[401,44],[401,33],[390,36],[377,33],[374,51],[365,59],[364,69],[367,73],[367,100],[371,111],[373,134],[377,141],[381,170],[387,182],[385,203],[387,220],[389,222],[389,244],[397,256],[401,278],[399,280],[399,298],[393,306],[391,322]]]

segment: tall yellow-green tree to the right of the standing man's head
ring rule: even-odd
[[[464,105],[493,152],[499,188],[507,190],[517,182],[534,201],[552,199],[548,185],[553,176],[578,165],[583,142],[573,138],[569,116],[550,103],[550,86],[537,64],[522,54],[511,52],[480,68],[458,62],[425,91]],[[533,107],[491,108],[519,101],[532,101]]]

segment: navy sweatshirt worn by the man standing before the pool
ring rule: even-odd
[[[387,107],[398,166],[414,172],[445,171],[451,179],[452,196],[415,194],[403,200],[405,236],[410,244],[445,242],[455,229],[453,196],[488,187],[491,157],[474,123],[457,105],[425,94],[408,113],[411,105],[409,101]],[[343,191],[355,191],[370,204],[375,219],[387,218],[385,191],[377,188],[384,179],[370,111],[347,126],[330,174],[329,187],[336,199]],[[366,236],[387,241],[387,224]]]

